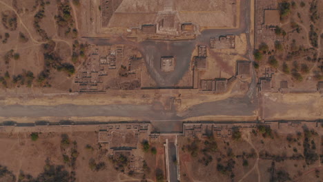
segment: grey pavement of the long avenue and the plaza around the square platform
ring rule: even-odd
[[[124,39],[115,39],[117,43],[127,43],[138,46],[145,56],[148,66],[151,67],[150,74],[159,85],[174,85],[188,70],[190,54],[195,45],[208,45],[210,37],[218,37],[222,34],[248,34],[250,23],[250,0],[241,1],[240,27],[237,29],[205,30],[197,39],[192,41],[144,41],[133,43]],[[245,13],[245,16],[244,16]],[[114,43],[109,39],[88,39],[99,45],[110,45]],[[252,59],[251,43],[248,42],[248,53],[245,57]],[[159,63],[154,63],[161,55],[175,54],[177,57],[177,71],[170,74],[160,72]],[[249,87],[248,94],[244,97],[231,97],[222,101],[213,101],[193,105],[184,112],[175,110],[164,110],[159,102],[152,105],[0,105],[1,117],[132,117],[141,120],[181,120],[189,117],[200,117],[206,115],[230,115],[230,116],[251,116],[257,110],[257,95],[255,92],[256,77],[253,73],[253,81]]]

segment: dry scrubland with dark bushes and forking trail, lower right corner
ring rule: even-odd
[[[318,165],[317,140],[322,144],[315,130],[307,129],[306,125],[302,128],[302,132],[280,134],[270,125],[257,125],[253,129],[233,130],[231,139],[206,135],[183,138],[180,140],[182,158],[185,158],[181,165],[185,166],[182,177],[185,180],[239,181],[249,170],[255,170],[255,174],[248,175],[257,179],[254,175],[258,175],[256,168],[259,168],[262,181],[298,179],[303,175],[300,170],[305,173]],[[322,150],[320,152],[322,155]],[[288,168],[288,164],[293,165],[293,169]],[[196,168],[201,169],[202,174],[192,173]],[[218,173],[211,172],[211,168],[216,168]]]

